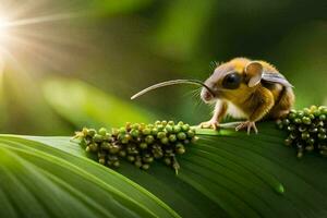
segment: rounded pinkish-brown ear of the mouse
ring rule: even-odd
[[[253,87],[257,85],[263,77],[264,66],[258,61],[252,61],[245,66],[245,75],[247,78],[247,86]]]

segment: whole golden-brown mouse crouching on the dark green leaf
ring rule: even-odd
[[[217,65],[204,83],[201,98],[215,104],[213,118],[201,123],[201,128],[219,128],[220,121],[230,114],[245,119],[237,131],[253,129],[255,122],[269,118],[279,119],[289,113],[294,104],[293,86],[278,70],[266,61],[234,58]]]

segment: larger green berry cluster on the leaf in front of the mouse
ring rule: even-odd
[[[184,145],[195,142],[195,130],[189,124],[173,121],[156,121],[154,124],[126,123],[108,132],[84,128],[76,132],[88,153],[95,153],[101,165],[117,168],[120,159],[126,159],[137,168],[147,170],[155,159],[162,159],[177,172],[180,168],[175,155],[185,153]]]

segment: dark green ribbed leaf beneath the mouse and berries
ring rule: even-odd
[[[286,134],[274,123],[258,129],[259,134],[250,136],[198,130],[201,140],[178,158],[179,175],[160,162],[147,172],[123,162],[118,172],[182,217],[326,216],[326,159],[315,154],[298,159],[293,148],[283,146]],[[68,137],[28,138],[85,157]]]

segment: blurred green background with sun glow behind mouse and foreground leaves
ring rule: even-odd
[[[0,2],[20,20],[48,17],[0,40],[11,55],[2,53],[1,133],[71,135],[83,125],[156,119],[197,124],[211,109],[196,87],[130,97],[165,80],[205,80],[213,61],[234,57],[275,64],[295,86],[298,108],[327,104],[325,0]]]

